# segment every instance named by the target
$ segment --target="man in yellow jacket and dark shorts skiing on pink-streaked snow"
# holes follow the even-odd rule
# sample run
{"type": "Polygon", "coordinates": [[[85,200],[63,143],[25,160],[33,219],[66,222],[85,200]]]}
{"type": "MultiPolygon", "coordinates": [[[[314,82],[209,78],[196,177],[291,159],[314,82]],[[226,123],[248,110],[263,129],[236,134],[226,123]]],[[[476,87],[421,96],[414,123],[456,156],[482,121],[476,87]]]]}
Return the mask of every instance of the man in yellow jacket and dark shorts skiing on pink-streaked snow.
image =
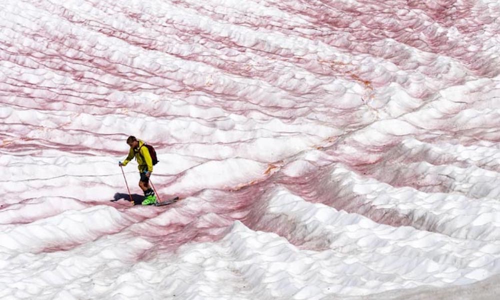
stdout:
{"type": "Polygon", "coordinates": [[[138,168],[140,172],[139,187],[144,192],[145,199],[142,201],[142,205],[150,205],[156,203],[156,196],[154,195],[154,190],[149,185],[149,176],[153,171],[153,163],[149,150],[144,146],[144,141],[136,139],[135,136],[128,136],[126,143],[130,146],[128,151],[128,156],[119,162],[118,164],[126,165],[135,156],[137,159],[138,168]]]}

